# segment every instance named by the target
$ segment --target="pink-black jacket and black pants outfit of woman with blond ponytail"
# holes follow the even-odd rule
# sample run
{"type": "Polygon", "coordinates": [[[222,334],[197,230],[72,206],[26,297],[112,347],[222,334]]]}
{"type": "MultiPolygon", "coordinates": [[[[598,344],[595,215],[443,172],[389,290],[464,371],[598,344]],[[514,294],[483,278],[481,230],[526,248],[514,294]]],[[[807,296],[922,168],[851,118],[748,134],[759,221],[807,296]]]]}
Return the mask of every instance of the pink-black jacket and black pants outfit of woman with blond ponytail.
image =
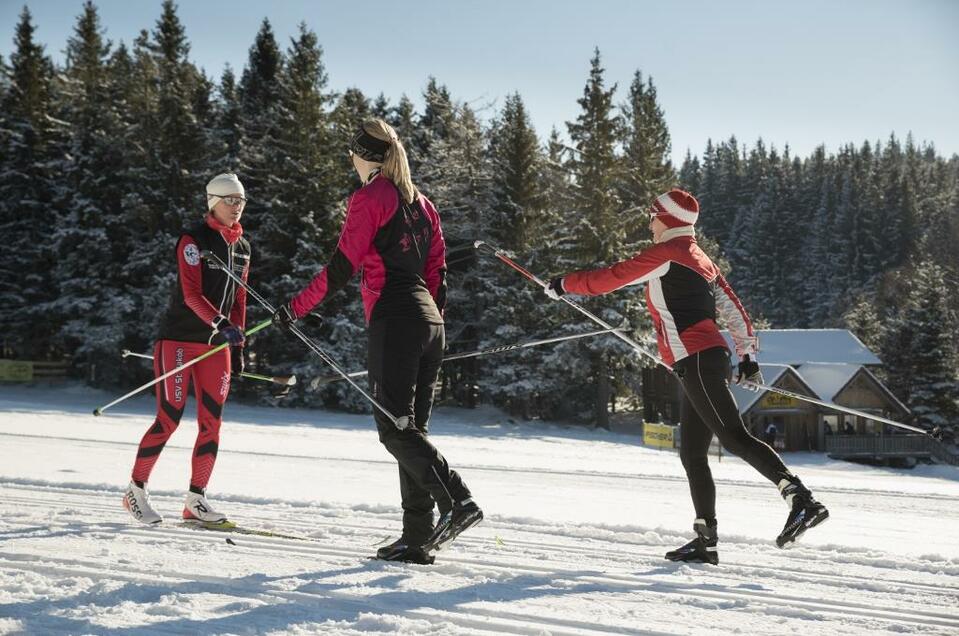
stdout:
{"type": "Polygon", "coordinates": [[[378,409],[373,416],[380,441],[399,463],[402,538],[421,545],[433,530],[434,502],[442,514],[470,497],[427,438],[446,304],[446,244],[429,199],[417,194],[407,204],[392,181],[372,175],[350,198],[330,263],[290,307],[298,318],[306,315],[357,271],[369,328],[371,393],[409,424],[400,429],[378,409]]]}

